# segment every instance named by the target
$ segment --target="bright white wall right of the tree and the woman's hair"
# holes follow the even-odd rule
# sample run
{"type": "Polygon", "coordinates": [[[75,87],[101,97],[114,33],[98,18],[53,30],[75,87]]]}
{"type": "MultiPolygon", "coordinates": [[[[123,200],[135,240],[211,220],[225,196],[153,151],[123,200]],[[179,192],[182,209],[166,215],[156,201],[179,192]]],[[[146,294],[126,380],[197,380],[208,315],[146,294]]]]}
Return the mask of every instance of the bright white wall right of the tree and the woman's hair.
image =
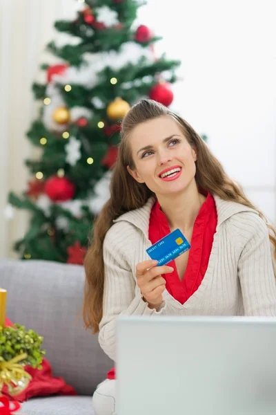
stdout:
{"type": "Polygon", "coordinates": [[[182,61],[173,108],[206,133],[226,172],[276,223],[275,0],[178,0],[139,20],[182,61]],[[171,16],[171,17],[170,17],[171,16]]]}

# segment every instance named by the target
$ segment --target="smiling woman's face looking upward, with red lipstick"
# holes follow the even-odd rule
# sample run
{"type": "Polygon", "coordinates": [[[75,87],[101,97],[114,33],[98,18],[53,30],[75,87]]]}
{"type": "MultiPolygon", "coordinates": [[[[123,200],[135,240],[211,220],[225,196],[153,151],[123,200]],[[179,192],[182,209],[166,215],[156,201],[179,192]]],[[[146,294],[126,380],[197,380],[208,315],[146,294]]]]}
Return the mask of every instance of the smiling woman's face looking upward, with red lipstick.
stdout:
{"type": "Polygon", "coordinates": [[[138,124],[128,140],[135,163],[128,172],[157,197],[183,192],[195,180],[197,154],[170,116],[138,124]]]}

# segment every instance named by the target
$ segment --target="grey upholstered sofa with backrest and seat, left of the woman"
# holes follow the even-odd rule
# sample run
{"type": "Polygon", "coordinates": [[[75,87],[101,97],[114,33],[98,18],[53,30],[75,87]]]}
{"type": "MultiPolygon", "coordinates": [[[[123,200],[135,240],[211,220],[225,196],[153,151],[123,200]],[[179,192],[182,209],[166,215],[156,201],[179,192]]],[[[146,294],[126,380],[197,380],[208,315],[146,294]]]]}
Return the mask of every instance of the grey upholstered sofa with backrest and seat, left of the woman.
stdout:
{"type": "Polygon", "coordinates": [[[6,315],[44,336],[43,347],[54,376],[78,396],[31,398],[26,415],[93,415],[92,394],[114,365],[97,335],[83,329],[82,266],[50,261],[0,259],[0,287],[8,291],[6,315]]]}

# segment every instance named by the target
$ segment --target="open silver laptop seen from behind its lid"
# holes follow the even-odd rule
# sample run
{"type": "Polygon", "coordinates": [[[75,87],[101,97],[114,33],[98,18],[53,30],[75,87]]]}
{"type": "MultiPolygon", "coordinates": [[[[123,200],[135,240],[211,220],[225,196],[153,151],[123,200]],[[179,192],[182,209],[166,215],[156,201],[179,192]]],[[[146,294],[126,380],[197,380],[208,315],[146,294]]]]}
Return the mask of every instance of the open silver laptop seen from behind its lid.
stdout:
{"type": "Polygon", "coordinates": [[[275,415],[276,317],[119,317],[117,415],[275,415]]]}

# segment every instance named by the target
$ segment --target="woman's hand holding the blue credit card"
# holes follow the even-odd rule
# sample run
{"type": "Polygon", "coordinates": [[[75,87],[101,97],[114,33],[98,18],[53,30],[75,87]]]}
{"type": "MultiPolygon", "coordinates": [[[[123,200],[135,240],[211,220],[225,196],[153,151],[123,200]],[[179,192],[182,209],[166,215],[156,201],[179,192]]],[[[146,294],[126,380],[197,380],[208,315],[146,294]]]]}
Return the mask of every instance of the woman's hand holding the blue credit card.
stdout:
{"type": "Polygon", "coordinates": [[[172,273],[170,266],[157,266],[158,261],[143,261],[136,266],[137,284],[144,300],[150,308],[159,308],[163,301],[162,293],[166,288],[166,280],[161,274],[172,273]]]}

